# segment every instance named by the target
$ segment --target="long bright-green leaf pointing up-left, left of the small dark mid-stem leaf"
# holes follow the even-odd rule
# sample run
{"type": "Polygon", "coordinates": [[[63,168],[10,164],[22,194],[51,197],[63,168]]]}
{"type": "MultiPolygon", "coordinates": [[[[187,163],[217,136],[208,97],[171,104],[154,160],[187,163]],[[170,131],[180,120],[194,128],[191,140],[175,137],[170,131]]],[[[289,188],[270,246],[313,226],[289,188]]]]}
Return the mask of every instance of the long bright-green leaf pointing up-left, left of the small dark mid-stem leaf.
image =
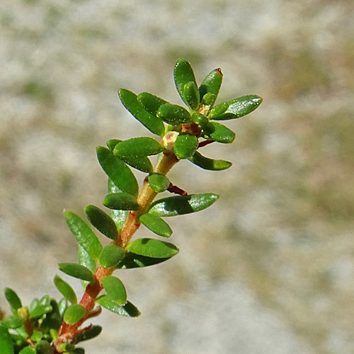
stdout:
{"type": "Polygon", "coordinates": [[[97,261],[102,250],[102,245],[89,225],[86,224],[81,217],[74,214],[74,212],[66,211],[64,212],[64,217],[67,220],[70,231],[79,242],[79,245],[89,253],[91,258],[97,261]]]}

